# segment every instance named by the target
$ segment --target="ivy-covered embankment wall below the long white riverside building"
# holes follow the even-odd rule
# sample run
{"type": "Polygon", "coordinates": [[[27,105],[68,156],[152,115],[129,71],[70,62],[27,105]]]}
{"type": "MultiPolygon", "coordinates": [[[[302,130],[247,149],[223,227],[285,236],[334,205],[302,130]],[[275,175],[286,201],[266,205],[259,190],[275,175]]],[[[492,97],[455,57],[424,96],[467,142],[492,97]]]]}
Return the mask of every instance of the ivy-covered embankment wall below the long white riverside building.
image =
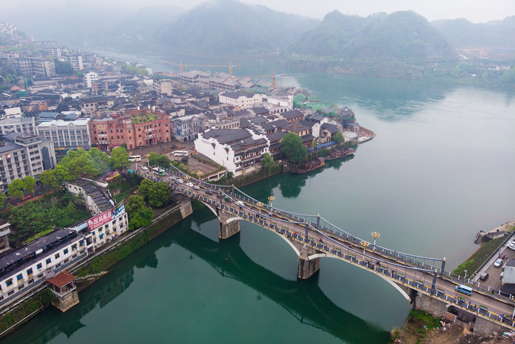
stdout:
{"type": "MultiPolygon", "coordinates": [[[[101,274],[107,268],[118,263],[134,251],[141,248],[150,240],[156,238],[165,232],[171,226],[183,220],[193,212],[190,198],[177,195],[179,204],[166,209],[163,214],[157,217],[150,225],[127,233],[118,240],[110,243],[107,247],[97,251],[94,255],[81,261],[80,264],[70,269],[70,272],[78,276],[87,276],[91,274],[101,274]]],[[[96,277],[97,279],[100,278],[96,277]]],[[[80,290],[94,283],[96,279],[84,279],[78,282],[80,290]]],[[[52,305],[55,296],[48,288],[37,290],[32,295],[18,302],[8,312],[0,316],[0,338],[14,331],[23,323],[32,317],[43,312],[47,307],[52,305]]]]}

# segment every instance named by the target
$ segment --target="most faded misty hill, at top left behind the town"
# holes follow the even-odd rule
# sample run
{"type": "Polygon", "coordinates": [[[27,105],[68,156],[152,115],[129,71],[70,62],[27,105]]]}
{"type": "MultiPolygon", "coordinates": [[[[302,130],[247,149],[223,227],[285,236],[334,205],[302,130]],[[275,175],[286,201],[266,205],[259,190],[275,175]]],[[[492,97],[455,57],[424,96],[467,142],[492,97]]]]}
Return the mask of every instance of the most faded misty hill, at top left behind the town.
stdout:
{"type": "Polygon", "coordinates": [[[132,10],[106,2],[29,2],[0,11],[0,22],[13,23],[36,40],[58,40],[80,46],[83,41],[149,40],[159,25],[169,25],[185,11],[177,7],[132,10]],[[138,37],[140,35],[140,37],[138,37]],[[76,43],[76,44],[74,44],[76,43]]]}

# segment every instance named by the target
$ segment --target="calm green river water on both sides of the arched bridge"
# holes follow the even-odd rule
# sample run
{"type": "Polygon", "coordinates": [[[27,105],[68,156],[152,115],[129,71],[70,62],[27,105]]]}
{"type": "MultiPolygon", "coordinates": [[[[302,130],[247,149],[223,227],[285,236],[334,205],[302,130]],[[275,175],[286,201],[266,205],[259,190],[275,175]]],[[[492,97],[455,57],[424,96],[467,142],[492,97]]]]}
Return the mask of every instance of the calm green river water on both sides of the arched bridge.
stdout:
{"type": "MultiPolygon", "coordinates": [[[[171,71],[159,56],[108,53],[171,71]]],[[[377,137],[353,159],[243,188],[254,198],[273,195],[278,208],[319,213],[367,240],[379,232],[396,251],[447,257],[446,270],[476,249],[477,231],[515,219],[513,92],[322,73],[282,82],[350,107],[377,137]]],[[[409,303],[384,280],[322,258],[318,274],[297,281],[283,239],[241,227],[219,241],[214,215],[198,211],[112,267],[79,305],[48,309],[3,342],[380,344],[402,326],[409,303]]]]}

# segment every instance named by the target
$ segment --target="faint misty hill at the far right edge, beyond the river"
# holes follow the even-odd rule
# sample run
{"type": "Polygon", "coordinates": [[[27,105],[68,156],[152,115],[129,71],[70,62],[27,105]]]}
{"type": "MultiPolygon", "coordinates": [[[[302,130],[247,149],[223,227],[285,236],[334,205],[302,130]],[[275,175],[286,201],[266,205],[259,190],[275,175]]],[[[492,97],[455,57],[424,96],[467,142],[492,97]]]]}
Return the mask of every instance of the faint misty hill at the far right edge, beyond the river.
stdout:
{"type": "Polygon", "coordinates": [[[466,19],[442,19],[431,25],[455,46],[515,48],[515,15],[479,24],[466,19]]]}

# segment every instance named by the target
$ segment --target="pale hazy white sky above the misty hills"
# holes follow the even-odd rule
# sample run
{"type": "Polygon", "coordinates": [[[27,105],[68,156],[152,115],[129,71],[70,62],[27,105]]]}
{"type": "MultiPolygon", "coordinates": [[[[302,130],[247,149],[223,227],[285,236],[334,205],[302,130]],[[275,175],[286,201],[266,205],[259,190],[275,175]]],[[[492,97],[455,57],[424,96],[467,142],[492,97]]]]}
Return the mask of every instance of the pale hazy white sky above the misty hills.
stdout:
{"type": "MultiPolygon", "coordinates": [[[[78,0],[46,0],[45,7],[62,2],[76,2],[78,0]]],[[[24,6],[30,6],[40,0],[27,0],[24,6]]],[[[88,4],[107,4],[134,9],[142,6],[171,5],[185,9],[205,2],[205,0],[90,0],[88,4]]],[[[400,10],[414,10],[429,21],[438,19],[466,18],[474,23],[484,23],[489,20],[502,20],[515,15],[515,0],[244,0],[249,4],[261,4],[271,9],[287,13],[307,15],[322,19],[325,14],[334,9],[344,14],[357,14],[366,17],[376,12],[395,12],[400,10]]],[[[12,6],[19,6],[19,2],[0,0],[0,11],[8,10],[12,6]]],[[[229,14],[229,13],[228,13],[229,14]]]]}

